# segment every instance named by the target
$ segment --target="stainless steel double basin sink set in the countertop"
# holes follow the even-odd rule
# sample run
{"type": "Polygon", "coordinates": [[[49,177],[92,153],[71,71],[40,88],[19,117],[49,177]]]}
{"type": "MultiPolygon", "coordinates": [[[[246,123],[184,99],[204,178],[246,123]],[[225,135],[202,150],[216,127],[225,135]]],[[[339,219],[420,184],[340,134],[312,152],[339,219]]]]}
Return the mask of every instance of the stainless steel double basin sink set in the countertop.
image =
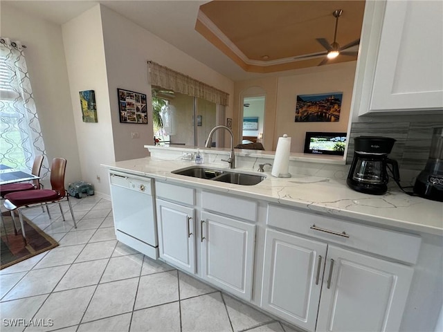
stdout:
{"type": "Polygon", "coordinates": [[[230,172],[224,169],[214,169],[204,166],[191,166],[172,171],[173,174],[204,178],[206,180],[233,183],[235,185],[256,185],[262,182],[266,176],[248,174],[242,172],[230,172]]]}

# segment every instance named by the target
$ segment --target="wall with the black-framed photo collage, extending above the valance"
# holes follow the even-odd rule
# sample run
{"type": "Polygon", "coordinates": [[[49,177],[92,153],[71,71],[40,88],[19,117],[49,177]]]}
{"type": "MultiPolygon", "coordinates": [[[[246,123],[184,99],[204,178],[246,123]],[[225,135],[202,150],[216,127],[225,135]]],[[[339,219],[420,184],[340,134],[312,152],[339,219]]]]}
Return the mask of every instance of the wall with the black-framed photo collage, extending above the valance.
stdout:
{"type": "MultiPolygon", "coordinates": [[[[153,143],[152,108],[148,109],[148,125],[120,123],[118,118],[117,88],[145,93],[147,104],[151,104],[148,60],[229,93],[229,104],[233,104],[232,80],[105,6],[101,6],[101,15],[116,160],[147,156],[143,145],[153,143]],[[134,131],[140,133],[140,139],[131,138],[134,131]]],[[[232,113],[230,108],[232,106],[227,108],[227,114],[232,113]]]]}

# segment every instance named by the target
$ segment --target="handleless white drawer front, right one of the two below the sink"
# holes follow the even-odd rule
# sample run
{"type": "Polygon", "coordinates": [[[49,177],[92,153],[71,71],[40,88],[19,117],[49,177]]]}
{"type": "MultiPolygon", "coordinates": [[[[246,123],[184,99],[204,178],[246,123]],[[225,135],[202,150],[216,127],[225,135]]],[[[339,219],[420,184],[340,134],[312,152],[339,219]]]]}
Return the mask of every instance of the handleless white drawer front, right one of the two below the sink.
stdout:
{"type": "Polygon", "coordinates": [[[246,199],[214,194],[213,192],[202,192],[201,207],[205,210],[219,212],[235,218],[248,221],[257,220],[257,203],[246,199]]]}

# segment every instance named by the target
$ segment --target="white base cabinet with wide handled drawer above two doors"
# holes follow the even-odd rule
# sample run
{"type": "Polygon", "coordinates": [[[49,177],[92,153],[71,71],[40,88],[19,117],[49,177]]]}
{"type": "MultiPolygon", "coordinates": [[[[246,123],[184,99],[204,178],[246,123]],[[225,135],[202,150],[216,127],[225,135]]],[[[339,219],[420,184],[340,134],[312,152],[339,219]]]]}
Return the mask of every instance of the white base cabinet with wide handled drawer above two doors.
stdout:
{"type": "Polygon", "coordinates": [[[393,260],[414,264],[420,237],[271,204],[266,224],[285,232],[266,229],[262,308],[307,331],[399,331],[413,268],[393,260]]]}

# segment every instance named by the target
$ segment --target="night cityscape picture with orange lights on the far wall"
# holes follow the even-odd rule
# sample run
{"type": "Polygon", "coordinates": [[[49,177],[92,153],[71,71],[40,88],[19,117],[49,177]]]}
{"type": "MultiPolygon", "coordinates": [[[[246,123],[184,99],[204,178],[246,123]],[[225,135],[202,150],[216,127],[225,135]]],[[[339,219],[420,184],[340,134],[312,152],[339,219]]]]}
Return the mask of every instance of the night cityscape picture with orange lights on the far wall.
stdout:
{"type": "Polygon", "coordinates": [[[295,122],[339,121],[342,97],[342,92],[297,95],[295,122]]]}

